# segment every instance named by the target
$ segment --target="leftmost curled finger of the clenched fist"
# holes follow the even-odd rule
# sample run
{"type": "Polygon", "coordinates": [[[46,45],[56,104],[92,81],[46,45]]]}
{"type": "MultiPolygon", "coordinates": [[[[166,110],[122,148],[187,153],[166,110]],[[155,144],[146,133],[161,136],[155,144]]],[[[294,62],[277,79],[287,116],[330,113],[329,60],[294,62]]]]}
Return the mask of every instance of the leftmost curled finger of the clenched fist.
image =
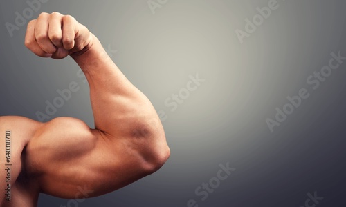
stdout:
{"type": "Polygon", "coordinates": [[[51,54],[48,54],[47,52],[44,52],[41,47],[39,47],[36,39],[35,39],[35,24],[36,19],[32,20],[28,23],[28,28],[26,30],[26,36],[25,36],[25,46],[35,53],[35,55],[39,57],[51,57],[51,54]]]}

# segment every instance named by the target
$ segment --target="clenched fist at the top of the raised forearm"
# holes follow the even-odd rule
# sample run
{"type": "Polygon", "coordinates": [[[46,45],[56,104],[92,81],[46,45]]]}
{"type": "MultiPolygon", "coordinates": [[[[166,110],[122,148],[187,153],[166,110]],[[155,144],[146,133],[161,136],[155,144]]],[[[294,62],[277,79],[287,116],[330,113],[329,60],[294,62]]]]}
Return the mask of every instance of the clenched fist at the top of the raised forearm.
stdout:
{"type": "Polygon", "coordinates": [[[62,59],[82,54],[93,43],[93,34],[69,15],[39,14],[28,23],[25,45],[39,57],[62,59]]]}

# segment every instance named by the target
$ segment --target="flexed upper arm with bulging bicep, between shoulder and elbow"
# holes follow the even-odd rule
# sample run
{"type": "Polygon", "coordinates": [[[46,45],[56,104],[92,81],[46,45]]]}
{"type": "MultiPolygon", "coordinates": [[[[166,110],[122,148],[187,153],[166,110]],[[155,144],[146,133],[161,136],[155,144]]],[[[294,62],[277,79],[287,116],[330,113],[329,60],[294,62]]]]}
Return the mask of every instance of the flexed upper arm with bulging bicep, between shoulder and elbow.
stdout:
{"type": "Polygon", "coordinates": [[[150,174],[125,137],[108,136],[79,119],[53,119],[27,145],[26,173],[42,193],[69,199],[81,188],[94,197],[150,174]]]}

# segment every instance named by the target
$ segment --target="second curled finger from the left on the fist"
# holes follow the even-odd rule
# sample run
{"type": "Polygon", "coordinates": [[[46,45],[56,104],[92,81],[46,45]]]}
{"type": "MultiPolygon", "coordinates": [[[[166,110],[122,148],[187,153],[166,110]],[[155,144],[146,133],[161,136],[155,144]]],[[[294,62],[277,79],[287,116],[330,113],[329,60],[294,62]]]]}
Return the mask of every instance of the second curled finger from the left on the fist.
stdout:
{"type": "Polygon", "coordinates": [[[50,14],[47,13],[39,14],[39,18],[35,25],[35,38],[42,50],[49,54],[53,54],[57,48],[55,48],[51,39],[48,37],[49,16],[50,14]]]}

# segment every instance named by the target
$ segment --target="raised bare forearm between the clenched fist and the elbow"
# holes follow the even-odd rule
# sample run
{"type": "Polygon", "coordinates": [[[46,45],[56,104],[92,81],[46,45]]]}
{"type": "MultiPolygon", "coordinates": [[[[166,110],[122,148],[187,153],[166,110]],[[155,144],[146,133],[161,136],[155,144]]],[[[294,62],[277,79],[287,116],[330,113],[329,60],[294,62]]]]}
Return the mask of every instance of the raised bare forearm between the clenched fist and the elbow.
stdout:
{"type": "Polygon", "coordinates": [[[131,132],[136,126],[149,127],[154,123],[162,127],[147,97],[122,74],[100,41],[92,37],[91,46],[85,52],[71,57],[89,82],[95,128],[123,135],[124,131],[131,132]]]}

